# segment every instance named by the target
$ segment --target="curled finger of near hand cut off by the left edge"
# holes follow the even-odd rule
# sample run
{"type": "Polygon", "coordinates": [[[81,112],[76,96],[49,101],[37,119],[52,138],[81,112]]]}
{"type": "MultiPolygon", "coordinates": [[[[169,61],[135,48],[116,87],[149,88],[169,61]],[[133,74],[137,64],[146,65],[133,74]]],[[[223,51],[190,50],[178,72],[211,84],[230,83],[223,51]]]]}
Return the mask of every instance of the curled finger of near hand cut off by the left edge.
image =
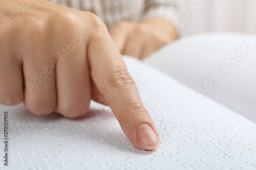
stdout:
{"type": "Polygon", "coordinates": [[[24,95],[22,64],[13,60],[6,50],[0,51],[0,103],[7,106],[17,105],[23,101],[24,95]]]}

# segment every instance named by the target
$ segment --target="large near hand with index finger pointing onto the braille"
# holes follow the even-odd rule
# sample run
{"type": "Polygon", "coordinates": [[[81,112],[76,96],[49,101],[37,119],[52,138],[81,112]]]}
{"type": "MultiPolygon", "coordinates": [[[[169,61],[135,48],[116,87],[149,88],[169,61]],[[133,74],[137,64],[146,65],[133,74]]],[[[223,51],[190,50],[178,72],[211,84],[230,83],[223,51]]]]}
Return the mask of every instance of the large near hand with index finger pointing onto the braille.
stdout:
{"type": "Polygon", "coordinates": [[[104,23],[90,12],[26,2],[20,12],[19,1],[0,1],[0,103],[77,117],[101,95],[136,148],[158,148],[153,120],[104,23]]]}

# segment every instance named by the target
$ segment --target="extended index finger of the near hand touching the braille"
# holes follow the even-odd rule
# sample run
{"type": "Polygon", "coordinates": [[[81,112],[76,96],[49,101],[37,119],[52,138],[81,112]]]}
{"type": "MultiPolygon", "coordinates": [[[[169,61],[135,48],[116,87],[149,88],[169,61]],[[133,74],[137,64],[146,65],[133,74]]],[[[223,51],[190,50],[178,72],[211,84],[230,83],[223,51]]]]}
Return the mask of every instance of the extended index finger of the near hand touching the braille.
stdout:
{"type": "Polygon", "coordinates": [[[92,79],[123,132],[136,148],[157,149],[159,137],[156,127],[111,37],[105,32],[98,33],[88,50],[92,79]]]}

